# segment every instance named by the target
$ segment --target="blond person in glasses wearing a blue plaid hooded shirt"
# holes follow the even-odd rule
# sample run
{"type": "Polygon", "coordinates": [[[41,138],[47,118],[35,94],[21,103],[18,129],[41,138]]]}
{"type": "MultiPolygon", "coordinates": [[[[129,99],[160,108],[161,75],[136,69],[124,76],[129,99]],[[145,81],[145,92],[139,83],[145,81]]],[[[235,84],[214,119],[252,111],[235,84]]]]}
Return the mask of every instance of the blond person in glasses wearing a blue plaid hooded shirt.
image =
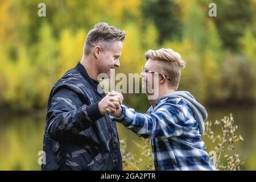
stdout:
{"type": "Polygon", "coordinates": [[[172,49],[149,50],[145,57],[143,87],[157,90],[158,97],[147,92],[151,107],[146,114],[122,105],[112,113],[113,120],[151,138],[156,170],[214,170],[201,140],[207,111],[189,92],[176,91],[185,62],[172,49]]]}

